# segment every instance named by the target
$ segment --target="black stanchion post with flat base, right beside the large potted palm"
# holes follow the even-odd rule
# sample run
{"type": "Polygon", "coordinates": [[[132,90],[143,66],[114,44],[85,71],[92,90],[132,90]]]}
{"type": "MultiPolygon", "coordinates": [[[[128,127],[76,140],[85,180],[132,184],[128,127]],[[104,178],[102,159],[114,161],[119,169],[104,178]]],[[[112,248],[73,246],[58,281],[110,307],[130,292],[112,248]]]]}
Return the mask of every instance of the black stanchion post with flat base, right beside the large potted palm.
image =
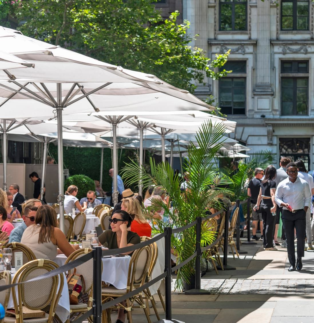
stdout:
{"type": "Polygon", "coordinates": [[[195,249],[197,252],[197,256],[195,259],[195,288],[188,289],[184,291],[186,295],[210,295],[209,290],[201,289],[201,226],[202,226],[202,218],[197,218],[196,224],[196,241],[195,241],[195,249]]]}

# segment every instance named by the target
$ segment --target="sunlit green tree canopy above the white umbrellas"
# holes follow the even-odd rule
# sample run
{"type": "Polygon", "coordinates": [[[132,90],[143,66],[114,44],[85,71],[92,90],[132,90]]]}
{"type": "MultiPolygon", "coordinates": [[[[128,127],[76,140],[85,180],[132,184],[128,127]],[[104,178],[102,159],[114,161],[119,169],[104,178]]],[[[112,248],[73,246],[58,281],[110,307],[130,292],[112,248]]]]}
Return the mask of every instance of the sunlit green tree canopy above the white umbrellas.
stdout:
{"type": "MultiPolygon", "coordinates": [[[[163,20],[157,0],[15,0],[9,1],[19,29],[31,36],[124,68],[154,74],[193,93],[228,54],[210,61],[189,46],[190,23],[177,24],[178,12],[163,20]]],[[[7,3],[4,1],[6,7],[7,3]]],[[[1,8],[0,8],[1,9],[1,8]]]]}

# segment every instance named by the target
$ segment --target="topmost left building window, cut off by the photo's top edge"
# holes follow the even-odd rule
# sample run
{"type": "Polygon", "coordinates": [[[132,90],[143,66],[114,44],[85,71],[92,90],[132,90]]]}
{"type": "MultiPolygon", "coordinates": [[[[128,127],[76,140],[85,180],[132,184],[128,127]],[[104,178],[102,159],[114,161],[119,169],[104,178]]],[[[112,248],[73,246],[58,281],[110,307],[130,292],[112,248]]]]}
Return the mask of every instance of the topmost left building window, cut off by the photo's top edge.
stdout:
{"type": "Polygon", "coordinates": [[[247,30],[247,0],[219,1],[219,30],[247,30]]]}

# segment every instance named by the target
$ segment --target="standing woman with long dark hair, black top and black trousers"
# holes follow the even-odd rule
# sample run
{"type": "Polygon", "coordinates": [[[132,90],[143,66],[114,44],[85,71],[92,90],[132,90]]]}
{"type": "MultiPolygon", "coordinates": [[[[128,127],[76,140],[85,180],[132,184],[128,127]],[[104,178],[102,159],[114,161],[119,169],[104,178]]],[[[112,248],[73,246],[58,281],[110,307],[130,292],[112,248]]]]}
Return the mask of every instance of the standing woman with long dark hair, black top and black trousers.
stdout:
{"type": "Polygon", "coordinates": [[[265,177],[260,184],[259,195],[257,203],[254,206],[255,210],[260,208],[262,211],[263,219],[263,245],[265,250],[277,250],[273,245],[273,236],[275,229],[276,220],[276,208],[275,203],[275,192],[276,192],[276,182],[274,178],[276,177],[276,168],[273,165],[269,165],[265,170],[265,177]]]}

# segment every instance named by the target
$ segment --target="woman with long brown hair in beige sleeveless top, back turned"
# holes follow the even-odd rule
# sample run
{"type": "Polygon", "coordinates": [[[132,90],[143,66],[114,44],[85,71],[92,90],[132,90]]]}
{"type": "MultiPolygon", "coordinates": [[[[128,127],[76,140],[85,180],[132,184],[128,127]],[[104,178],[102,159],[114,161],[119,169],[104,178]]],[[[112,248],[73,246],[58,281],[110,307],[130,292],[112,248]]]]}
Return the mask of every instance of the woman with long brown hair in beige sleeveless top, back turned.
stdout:
{"type": "Polygon", "coordinates": [[[78,245],[69,244],[65,234],[58,228],[56,211],[49,205],[38,208],[35,224],[25,229],[21,243],[29,247],[37,259],[54,260],[58,253],[68,257],[79,248],[78,245]]]}

